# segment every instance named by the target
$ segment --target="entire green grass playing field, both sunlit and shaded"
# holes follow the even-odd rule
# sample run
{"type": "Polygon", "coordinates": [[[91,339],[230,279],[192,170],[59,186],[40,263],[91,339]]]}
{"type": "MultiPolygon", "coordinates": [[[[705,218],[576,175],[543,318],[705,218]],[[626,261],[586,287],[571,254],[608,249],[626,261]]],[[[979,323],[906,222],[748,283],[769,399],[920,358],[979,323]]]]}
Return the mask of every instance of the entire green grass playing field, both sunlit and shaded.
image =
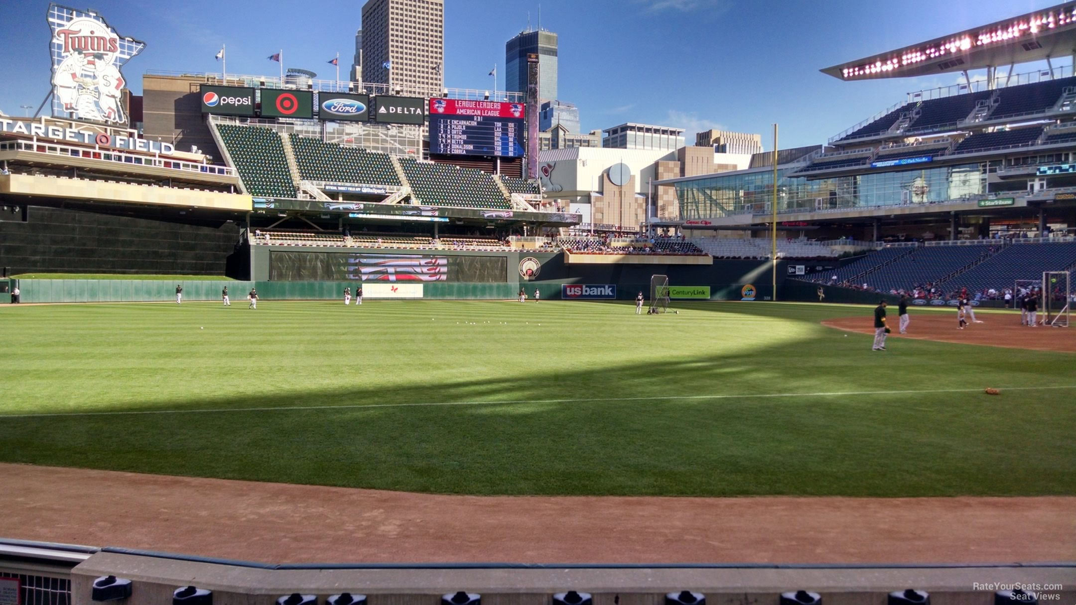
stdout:
{"type": "Polygon", "coordinates": [[[1076,356],[872,352],[819,325],[869,307],[677,306],[4,305],[0,461],[476,494],[1076,494],[1076,389],[1039,388],[1076,386],[1076,356]]]}

